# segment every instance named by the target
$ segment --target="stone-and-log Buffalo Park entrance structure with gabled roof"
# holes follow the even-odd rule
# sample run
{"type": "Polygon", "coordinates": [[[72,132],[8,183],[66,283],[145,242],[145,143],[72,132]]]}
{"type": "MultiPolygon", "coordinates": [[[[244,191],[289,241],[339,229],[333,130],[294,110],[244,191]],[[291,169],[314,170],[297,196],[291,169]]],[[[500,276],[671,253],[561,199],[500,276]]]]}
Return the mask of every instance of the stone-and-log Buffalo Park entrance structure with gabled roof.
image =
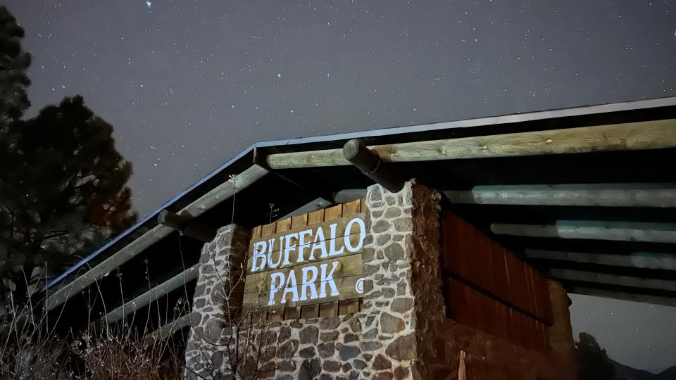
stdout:
{"type": "Polygon", "coordinates": [[[568,292],[676,305],[674,153],[674,98],[256,144],[46,308],[96,281],[190,379],[575,379],[568,292]]]}

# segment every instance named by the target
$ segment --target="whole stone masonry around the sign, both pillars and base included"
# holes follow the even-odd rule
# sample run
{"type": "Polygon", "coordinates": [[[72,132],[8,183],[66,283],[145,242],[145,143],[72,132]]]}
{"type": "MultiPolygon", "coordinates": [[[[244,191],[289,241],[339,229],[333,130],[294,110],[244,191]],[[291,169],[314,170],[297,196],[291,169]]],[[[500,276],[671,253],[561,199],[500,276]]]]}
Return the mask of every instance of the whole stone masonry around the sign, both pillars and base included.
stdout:
{"type": "MultiPolygon", "coordinates": [[[[212,258],[216,261],[200,270],[187,366],[203,366],[204,374],[209,369],[218,370],[216,376],[206,376],[207,379],[220,379],[220,375],[232,378],[228,357],[232,358],[237,345],[232,344],[232,339],[223,340],[236,335],[237,352],[249,358],[247,365],[238,364],[238,379],[254,373],[259,379],[280,380],[446,379],[457,374],[460,350],[470,357],[546,367],[544,357],[532,357],[530,351],[516,346],[508,346],[505,353],[501,349],[503,343],[496,338],[445,317],[439,272],[438,194],[415,182],[407,182],[396,194],[373,185],[365,201],[370,227],[363,251],[364,302],[360,312],[272,322],[233,334],[232,328],[225,327],[225,313],[218,306],[219,302],[223,304],[223,298],[209,295],[216,282],[203,279],[203,272],[208,277],[211,270],[216,270],[227,277],[222,265],[233,261],[226,258],[227,254],[243,260],[240,250],[246,251],[248,237],[243,246],[230,249],[227,241],[237,243],[246,234],[232,239],[223,237],[227,230],[222,229],[216,238],[222,243],[206,244],[202,253],[203,265],[212,258]],[[215,330],[219,327],[223,329],[220,335],[215,330]],[[211,341],[220,339],[223,344],[209,348],[199,336],[211,341]]],[[[242,355],[234,356],[242,361],[242,355]]]]}

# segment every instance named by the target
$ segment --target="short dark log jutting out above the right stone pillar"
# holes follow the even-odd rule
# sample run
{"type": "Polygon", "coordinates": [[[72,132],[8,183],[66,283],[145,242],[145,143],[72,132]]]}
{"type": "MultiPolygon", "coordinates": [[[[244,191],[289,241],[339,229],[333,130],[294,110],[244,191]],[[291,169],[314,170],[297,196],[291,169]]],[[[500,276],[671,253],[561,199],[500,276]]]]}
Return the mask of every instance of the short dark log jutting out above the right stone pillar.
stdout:
{"type": "Polygon", "coordinates": [[[389,169],[377,153],[363,146],[359,140],[347,141],[343,146],[343,155],[352,165],[358,167],[361,172],[388,191],[396,193],[403,189],[406,179],[389,169]]]}

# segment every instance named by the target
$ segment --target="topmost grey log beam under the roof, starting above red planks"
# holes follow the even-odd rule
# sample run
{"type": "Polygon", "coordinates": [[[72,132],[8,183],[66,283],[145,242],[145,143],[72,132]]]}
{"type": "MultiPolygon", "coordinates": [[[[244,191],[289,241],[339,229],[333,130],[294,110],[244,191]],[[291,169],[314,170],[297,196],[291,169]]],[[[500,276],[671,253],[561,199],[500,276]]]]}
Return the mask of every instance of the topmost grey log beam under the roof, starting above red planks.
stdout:
{"type": "Polygon", "coordinates": [[[461,204],[676,208],[675,184],[532,184],[442,192],[461,204]]]}

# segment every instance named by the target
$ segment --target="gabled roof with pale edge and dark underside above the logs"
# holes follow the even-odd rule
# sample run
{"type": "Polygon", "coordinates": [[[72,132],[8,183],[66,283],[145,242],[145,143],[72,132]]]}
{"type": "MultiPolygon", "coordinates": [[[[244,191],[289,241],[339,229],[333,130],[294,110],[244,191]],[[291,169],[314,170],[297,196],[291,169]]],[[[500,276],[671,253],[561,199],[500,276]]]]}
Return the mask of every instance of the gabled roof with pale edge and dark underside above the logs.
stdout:
{"type": "MultiPolygon", "coordinates": [[[[373,183],[355,167],[344,163],[270,169],[269,158],[275,155],[335,152],[349,139],[359,139],[367,146],[389,146],[674,118],[676,97],[670,97],[256,143],[50,281],[46,286],[47,305],[54,308],[94,285],[113,292],[105,289],[118,286],[108,286],[106,282],[111,281],[106,280],[106,274],[121,270],[139,277],[145,271],[142,265],[145,260],[149,260],[148,268],[154,272],[149,274],[151,284],[161,284],[193,265],[201,244],[180,239],[167,227],[158,226],[156,218],[161,210],[175,213],[184,210],[212,227],[230,223],[234,215],[234,222],[253,227],[308,203],[317,203],[318,198],[324,202],[318,204],[328,205],[334,201],[334,194],[348,189],[356,189],[353,194],[358,194],[358,189],[373,183]],[[239,176],[237,182],[228,182],[233,175],[239,176]]],[[[670,130],[676,134],[676,125],[672,122],[666,125],[671,125],[670,130]]],[[[569,291],[676,305],[676,282],[669,282],[670,278],[676,278],[676,267],[670,267],[675,262],[676,255],[672,254],[676,245],[635,238],[613,240],[607,236],[568,239],[559,236],[563,230],[534,227],[572,225],[573,229],[608,229],[617,224],[618,234],[631,233],[628,231],[632,227],[643,231],[674,231],[671,223],[676,222],[676,218],[670,208],[673,206],[476,201],[477,194],[484,199],[495,199],[523,191],[542,195],[550,190],[564,196],[582,194],[580,191],[589,194],[589,191],[615,190],[617,195],[657,189],[669,196],[675,189],[676,175],[665,165],[673,162],[674,153],[674,148],[667,146],[561,155],[403,160],[389,165],[443,191],[448,207],[521,253],[544,274],[561,279],[569,291]],[[525,232],[528,228],[530,232],[525,232]],[[636,265],[636,262],[642,264],[636,265]],[[618,284],[618,279],[623,282],[618,284]]],[[[139,289],[147,289],[146,282],[130,281],[127,294],[107,301],[106,312],[141,294],[139,289]]]]}

